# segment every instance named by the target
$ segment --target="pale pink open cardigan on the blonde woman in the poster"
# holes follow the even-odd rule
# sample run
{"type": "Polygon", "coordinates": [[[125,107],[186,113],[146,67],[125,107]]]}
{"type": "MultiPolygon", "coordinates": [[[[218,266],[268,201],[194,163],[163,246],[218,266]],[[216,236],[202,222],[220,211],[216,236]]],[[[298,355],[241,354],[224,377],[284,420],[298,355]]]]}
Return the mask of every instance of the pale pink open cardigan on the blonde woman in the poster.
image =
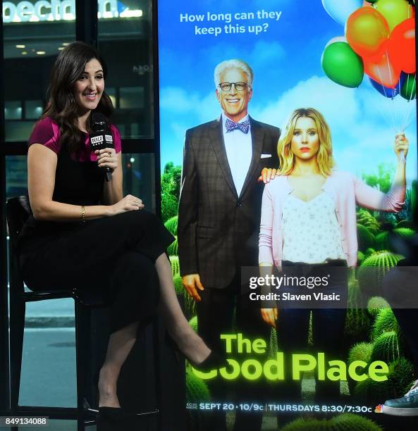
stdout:
{"type": "MultiPolygon", "coordinates": [[[[333,170],[322,187],[335,202],[341,242],[348,266],[357,264],[356,204],[373,210],[399,212],[404,204],[405,186],[392,186],[387,194],[366,185],[348,172],[333,170]]],[[[283,236],[282,210],[293,191],[287,176],[276,177],[264,187],[259,235],[259,263],[281,267],[283,236]]]]}

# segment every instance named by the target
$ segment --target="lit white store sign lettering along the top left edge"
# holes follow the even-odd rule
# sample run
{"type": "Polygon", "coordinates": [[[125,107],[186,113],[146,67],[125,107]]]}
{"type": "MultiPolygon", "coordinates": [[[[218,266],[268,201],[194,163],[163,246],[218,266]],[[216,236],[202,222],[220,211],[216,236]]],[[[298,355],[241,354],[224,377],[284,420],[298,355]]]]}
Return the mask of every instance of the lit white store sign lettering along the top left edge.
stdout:
{"type": "MultiPolygon", "coordinates": [[[[118,18],[121,3],[117,0],[99,0],[99,18],[118,18]]],[[[123,11],[123,8],[122,8],[123,11]]],[[[35,3],[19,1],[3,2],[4,23],[75,20],[75,0],[39,0],[35,3]]]]}

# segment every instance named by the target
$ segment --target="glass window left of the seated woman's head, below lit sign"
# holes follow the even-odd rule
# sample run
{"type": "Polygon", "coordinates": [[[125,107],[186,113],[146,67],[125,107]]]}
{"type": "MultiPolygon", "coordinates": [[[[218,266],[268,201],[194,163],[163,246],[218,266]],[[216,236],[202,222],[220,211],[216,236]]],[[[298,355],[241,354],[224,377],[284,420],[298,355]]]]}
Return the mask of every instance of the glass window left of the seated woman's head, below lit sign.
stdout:
{"type": "Polygon", "coordinates": [[[26,141],[45,105],[51,66],[75,40],[75,1],[12,0],[2,6],[6,140],[26,141]]]}

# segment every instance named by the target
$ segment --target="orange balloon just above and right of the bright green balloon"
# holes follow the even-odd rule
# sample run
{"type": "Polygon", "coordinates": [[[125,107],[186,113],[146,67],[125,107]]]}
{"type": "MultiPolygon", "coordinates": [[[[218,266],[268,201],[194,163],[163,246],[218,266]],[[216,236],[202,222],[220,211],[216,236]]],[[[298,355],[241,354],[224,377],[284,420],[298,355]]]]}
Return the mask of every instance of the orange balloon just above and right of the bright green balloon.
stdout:
{"type": "Polygon", "coordinates": [[[381,54],[389,35],[388,23],[374,8],[357,9],[345,25],[348,43],[363,60],[381,54]]]}

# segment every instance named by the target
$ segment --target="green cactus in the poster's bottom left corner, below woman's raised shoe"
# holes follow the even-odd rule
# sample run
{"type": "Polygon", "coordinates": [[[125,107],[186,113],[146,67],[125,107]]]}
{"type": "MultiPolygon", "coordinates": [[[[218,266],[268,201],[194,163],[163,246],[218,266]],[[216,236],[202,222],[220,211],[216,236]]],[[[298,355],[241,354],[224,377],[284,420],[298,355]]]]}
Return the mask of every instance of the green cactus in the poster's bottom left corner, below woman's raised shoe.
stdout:
{"type": "MultiPolygon", "coordinates": [[[[186,368],[186,400],[188,403],[209,402],[211,395],[207,384],[197,377],[190,367],[186,368]]],[[[188,429],[202,430],[202,423],[206,420],[204,412],[188,410],[188,429]]]]}

